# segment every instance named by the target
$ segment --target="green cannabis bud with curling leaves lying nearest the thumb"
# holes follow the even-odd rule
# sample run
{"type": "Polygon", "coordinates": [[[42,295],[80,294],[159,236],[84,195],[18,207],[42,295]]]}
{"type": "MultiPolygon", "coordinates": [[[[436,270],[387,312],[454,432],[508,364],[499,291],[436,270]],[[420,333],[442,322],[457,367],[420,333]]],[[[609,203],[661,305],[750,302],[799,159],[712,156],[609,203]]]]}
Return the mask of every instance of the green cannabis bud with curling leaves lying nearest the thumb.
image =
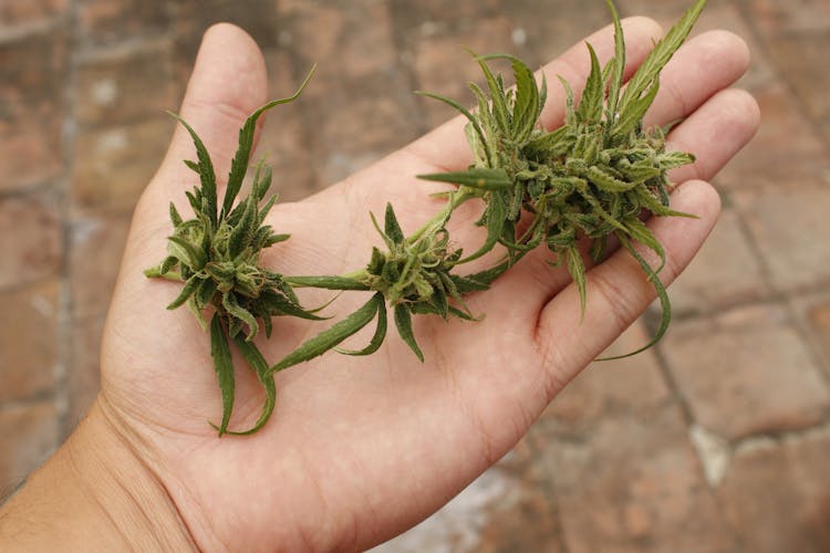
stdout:
{"type": "Polygon", "coordinates": [[[170,204],[173,234],[168,237],[167,257],[157,267],[147,269],[145,274],[181,281],[181,291],[167,309],[186,305],[203,328],[207,330],[204,313],[214,311],[210,351],[222,396],[222,419],[216,427],[220,436],[228,432],[234,410],[235,377],[229,342],[232,341],[241,351],[266,389],[267,401],[262,418],[253,427],[256,429],[264,424],[273,409],[276,393],[269,372],[262,368],[262,356],[253,345],[260,325],[270,337],[273,316],[321,320],[300,305],[291,284],[281,274],[259,264],[262,250],[289,238],[274,232],[264,222],[277,201],[277,195],[267,198],[272,182],[269,167],[262,163],[257,165],[251,192],[235,207],[248,171],[257,119],[266,111],[295,100],[312,74],[313,69],[294,94],[266,104],[245,122],[221,208],[214,164],[205,144],[187,122],[172,114],[193,138],[197,161],[187,160],[185,165],[199,176],[199,185],[186,192],[193,218],[183,218],[170,204]]]}

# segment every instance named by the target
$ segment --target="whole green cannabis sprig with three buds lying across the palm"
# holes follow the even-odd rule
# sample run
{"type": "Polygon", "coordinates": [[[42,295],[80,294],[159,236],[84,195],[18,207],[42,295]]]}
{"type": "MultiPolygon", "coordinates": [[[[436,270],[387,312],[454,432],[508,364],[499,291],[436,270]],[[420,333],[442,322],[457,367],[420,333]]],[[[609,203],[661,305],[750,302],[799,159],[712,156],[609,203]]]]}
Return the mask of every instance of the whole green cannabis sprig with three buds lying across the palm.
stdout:
{"type": "Polygon", "coordinates": [[[663,336],[671,321],[671,304],[658,278],[665,252],[643,222],[643,216],[693,217],[668,207],[672,185],[667,174],[692,163],[694,157],[668,152],[668,128],[645,128],[643,117],[660,90],[661,71],[685,41],[706,0],[697,0],[654,45],[627,83],[623,83],[625,43],[620,18],[613,3],[610,0],[606,3],[614,22],[614,56],[601,66],[588,44],[591,70],[579,101],[570,83],[560,77],[567,101],[564,123],[559,128],[547,131],[539,121],[548,95],[546,80],[542,77],[538,84],[528,65],[509,54],[470,52],[486,82],[486,91],[469,84],[477,102],[474,111],[452,98],[419,93],[454,106],[467,118],[466,137],[474,163],[463,171],[421,176],[456,186],[445,194],[444,207],[408,237],[403,233],[392,205],[386,206],[383,226],[370,213],[383,247],[373,248],[365,265],[347,274],[283,275],[260,265],[263,249],[289,238],[264,222],[276,201],[276,196],[268,197],[272,180],[268,167],[257,166],[251,192],[237,202],[250,161],[256,122],[267,109],[295,100],[311,74],[294,95],[266,104],[246,121],[221,204],[210,157],[195,131],[179,119],[193,137],[198,158],[185,161],[200,179],[187,192],[194,217],[185,220],[170,206],[174,230],[168,238],[168,255],[146,274],[183,282],[180,294],[168,309],[186,305],[206,328],[204,313],[212,311],[211,355],[224,408],[221,422],[216,425],[220,436],[249,434],[264,425],[276,401],[274,373],[330,349],[346,355],[376,352],[386,338],[388,311],[401,338],[423,361],[413,316],[476,320],[477,315],[464,301],[465,295],[487,290],[495,279],[539,247],[550,250],[552,265],[567,267],[580,292],[584,313],[587,268],[580,243],[590,242],[588,254],[593,262],[600,262],[613,237],[642,267],[654,285],[663,313],[653,340],[629,355],[650,347],[663,336]],[[513,87],[494,73],[490,64],[498,61],[510,64],[513,87]],[[453,246],[447,222],[455,209],[467,201],[481,205],[476,225],[487,232],[484,242],[465,255],[453,246]],[[652,267],[635,249],[636,243],[653,250],[660,264],[652,267]],[[491,267],[475,273],[464,271],[466,263],[491,252],[496,257],[491,267]],[[260,325],[270,337],[273,316],[322,319],[317,310],[301,305],[294,292],[300,286],[364,291],[372,295],[356,311],[269,365],[253,342],[260,325]],[[339,347],[373,322],[375,331],[365,347],[339,347]],[[228,429],[235,389],[231,342],[266,390],[259,420],[241,432],[228,429]]]}

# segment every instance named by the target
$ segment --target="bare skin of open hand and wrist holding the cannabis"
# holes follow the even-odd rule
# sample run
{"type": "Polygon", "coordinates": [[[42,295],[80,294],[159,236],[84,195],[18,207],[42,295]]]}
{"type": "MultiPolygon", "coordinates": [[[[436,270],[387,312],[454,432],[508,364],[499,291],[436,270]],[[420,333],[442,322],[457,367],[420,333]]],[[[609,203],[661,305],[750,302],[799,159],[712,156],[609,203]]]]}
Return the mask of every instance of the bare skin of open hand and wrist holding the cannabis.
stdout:
{"type": "MultiPolygon", "coordinates": [[[[662,31],[642,18],[623,27],[631,75],[662,31]]],[[[587,40],[602,62],[612,55],[611,28],[587,40]]],[[[665,284],[688,264],[717,219],[720,204],[706,180],[758,125],[755,101],[728,88],[748,62],[739,38],[716,31],[691,40],[663,73],[647,123],[684,118],[670,135],[671,148],[693,152],[698,160],[672,175],[679,184],[672,207],[699,217],[649,221],[667,253],[665,284]]],[[[543,71],[549,83],[561,74],[579,90],[589,71],[584,44],[543,71]]],[[[207,145],[217,175],[227,175],[239,126],[267,100],[253,41],[228,24],[211,28],[180,113],[207,145]]],[[[563,107],[561,87],[550,86],[546,127],[561,123],[563,107]]],[[[440,206],[428,192],[442,187],[414,175],[469,163],[463,125],[453,119],[343,182],[278,205],[269,222],[292,238],[271,248],[263,263],[287,274],[363,267],[378,241],[369,210],[382,213],[391,201],[411,232],[440,206]]],[[[179,127],[135,211],[104,330],[101,393],[69,441],[0,511],[0,541],[12,550],[370,547],[439,509],[512,448],[562,387],[654,299],[637,263],[616,251],[588,272],[580,322],[579,295],[567,272],[547,265],[549,253],[533,252],[470,298],[473,312],[487,314],[484,321],[416,320],[423,365],[394,332],[371,357],[326,354],[277,375],[277,409],[259,434],[218,439],[207,424],[221,414],[208,335],[186,310],[165,311],[177,284],[142,274],[164,255],[168,202],[187,212],[184,190],[195,175],[181,159],[194,156],[179,127]]],[[[465,205],[450,230],[468,229],[479,211],[465,205]]],[[[468,251],[481,239],[470,230],[453,236],[468,251]]],[[[301,292],[307,305],[329,298],[301,292]]],[[[349,313],[365,301],[357,295],[342,296],[333,310],[349,313]]],[[[323,327],[288,319],[274,326],[271,341],[258,342],[272,363],[323,327]]],[[[258,417],[262,393],[236,362],[231,428],[242,429],[258,417]]]]}

